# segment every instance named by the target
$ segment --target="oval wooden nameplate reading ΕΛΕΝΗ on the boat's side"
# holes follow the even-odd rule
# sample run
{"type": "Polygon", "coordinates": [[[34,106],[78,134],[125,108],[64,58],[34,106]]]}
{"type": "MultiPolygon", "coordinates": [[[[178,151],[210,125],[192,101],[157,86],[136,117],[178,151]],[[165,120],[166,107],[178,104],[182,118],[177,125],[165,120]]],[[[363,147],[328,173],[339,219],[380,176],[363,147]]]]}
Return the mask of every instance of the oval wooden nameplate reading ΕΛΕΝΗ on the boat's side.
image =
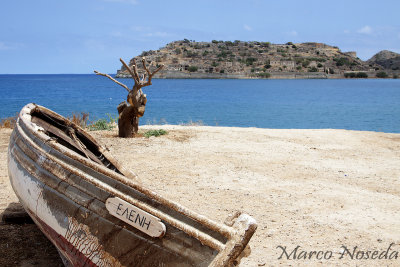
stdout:
{"type": "Polygon", "coordinates": [[[163,237],[166,231],[161,220],[118,197],[108,198],[106,208],[111,215],[152,237],[163,237]]]}

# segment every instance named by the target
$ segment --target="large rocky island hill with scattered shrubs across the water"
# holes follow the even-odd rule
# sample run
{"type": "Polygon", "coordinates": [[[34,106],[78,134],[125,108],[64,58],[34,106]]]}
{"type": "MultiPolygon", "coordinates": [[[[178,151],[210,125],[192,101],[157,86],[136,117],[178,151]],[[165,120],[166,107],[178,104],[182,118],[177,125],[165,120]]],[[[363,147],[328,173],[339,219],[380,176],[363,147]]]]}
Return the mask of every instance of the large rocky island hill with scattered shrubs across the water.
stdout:
{"type": "MultiPolygon", "coordinates": [[[[355,52],[342,52],[323,43],[175,41],[146,57],[150,66],[165,68],[159,78],[340,78],[346,73],[382,70],[374,62],[360,60],[355,52]]],[[[133,59],[130,65],[133,64],[133,59]]],[[[141,65],[141,64],[138,64],[141,65]]],[[[140,67],[140,66],[139,66],[140,67]]],[[[117,77],[129,77],[122,67],[117,77]]]]}

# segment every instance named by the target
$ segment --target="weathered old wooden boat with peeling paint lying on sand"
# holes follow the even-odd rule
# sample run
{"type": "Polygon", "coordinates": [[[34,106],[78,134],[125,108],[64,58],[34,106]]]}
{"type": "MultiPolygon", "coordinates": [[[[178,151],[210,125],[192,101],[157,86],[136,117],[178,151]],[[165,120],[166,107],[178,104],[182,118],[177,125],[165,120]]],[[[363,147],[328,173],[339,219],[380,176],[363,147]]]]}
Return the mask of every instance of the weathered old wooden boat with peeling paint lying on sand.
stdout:
{"type": "Polygon", "coordinates": [[[25,210],[72,266],[234,266],[257,228],[215,222],[145,188],[79,126],[22,108],[8,150],[25,210]]]}

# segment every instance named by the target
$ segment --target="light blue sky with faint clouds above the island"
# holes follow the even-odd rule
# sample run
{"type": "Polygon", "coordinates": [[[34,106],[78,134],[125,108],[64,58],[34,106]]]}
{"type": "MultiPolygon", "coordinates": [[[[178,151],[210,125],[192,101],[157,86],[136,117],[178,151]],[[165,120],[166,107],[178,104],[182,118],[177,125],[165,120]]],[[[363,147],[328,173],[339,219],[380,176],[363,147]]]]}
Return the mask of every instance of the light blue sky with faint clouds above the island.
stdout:
{"type": "Polygon", "coordinates": [[[0,7],[0,74],[116,73],[167,43],[322,42],[367,60],[400,53],[398,0],[13,0],[0,7]]]}

